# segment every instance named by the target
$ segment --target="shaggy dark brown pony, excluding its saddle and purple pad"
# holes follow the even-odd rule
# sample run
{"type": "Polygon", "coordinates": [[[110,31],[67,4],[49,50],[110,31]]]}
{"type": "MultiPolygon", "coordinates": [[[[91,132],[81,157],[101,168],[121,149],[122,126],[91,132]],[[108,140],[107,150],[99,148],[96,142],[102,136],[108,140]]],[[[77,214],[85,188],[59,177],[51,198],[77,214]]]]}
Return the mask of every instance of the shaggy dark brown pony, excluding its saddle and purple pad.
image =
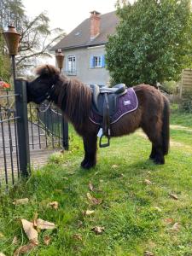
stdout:
{"type": "MultiPolygon", "coordinates": [[[[76,79],[68,79],[50,65],[37,69],[38,78],[27,84],[28,102],[41,103],[45,99],[61,108],[84,140],[84,160],[81,166],[89,169],[96,165],[96,141],[99,125],[90,121],[92,92],[76,79]]],[[[142,128],[152,143],[149,158],[155,164],[164,164],[169,148],[169,102],[159,90],[147,84],[133,89],[137,95],[137,110],[125,114],[111,125],[111,136],[119,137],[142,128]]]]}

